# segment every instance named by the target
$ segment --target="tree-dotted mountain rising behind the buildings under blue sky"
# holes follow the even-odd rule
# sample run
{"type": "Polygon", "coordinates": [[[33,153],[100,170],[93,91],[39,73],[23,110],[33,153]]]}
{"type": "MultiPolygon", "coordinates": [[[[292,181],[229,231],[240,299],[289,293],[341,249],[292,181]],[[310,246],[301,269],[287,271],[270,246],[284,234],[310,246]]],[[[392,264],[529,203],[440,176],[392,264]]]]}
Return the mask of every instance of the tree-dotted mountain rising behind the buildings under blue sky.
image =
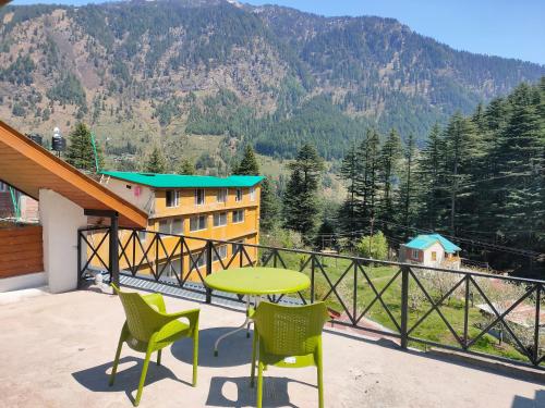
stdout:
{"type": "Polygon", "coordinates": [[[233,1],[8,5],[0,21],[1,118],[46,136],[83,120],[116,153],[193,134],[280,158],[313,141],[335,159],[366,126],[422,141],[436,121],[545,75],[392,18],[233,1]]]}

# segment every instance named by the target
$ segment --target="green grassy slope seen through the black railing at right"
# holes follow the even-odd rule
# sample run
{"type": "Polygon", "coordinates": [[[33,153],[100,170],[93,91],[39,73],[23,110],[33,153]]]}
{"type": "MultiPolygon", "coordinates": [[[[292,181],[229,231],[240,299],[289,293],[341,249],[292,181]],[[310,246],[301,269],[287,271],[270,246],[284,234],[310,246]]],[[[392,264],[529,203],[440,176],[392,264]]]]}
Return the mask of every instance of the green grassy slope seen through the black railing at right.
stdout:
{"type": "MultiPolygon", "coordinates": [[[[289,254],[289,252],[280,252],[283,261],[286,262],[286,267],[289,269],[300,270],[303,262],[306,260],[305,256],[289,254]]],[[[350,267],[349,260],[335,260],[328,258],[322,258],[322,263],[324,267],[324,271],[327,273],[330,282],[335,285],[339,277],[347,271],[350,267]]],[[[278,267],[281,267],[281,263],[278,262],[278,267]]],[[[373,285],[378,293],[390,282],[393,275],[397,273],[398,269],[392,267],[364,267],[367,272],[367,276],[370,277],[373,285]]],[[[311,268],[307,265],[304,269],[304,272],[311,275],[311,268]]],[[[344,277],[337,285],[337,293],[339,294],[340,299],[344,302],[350,313],[353,310],[353,268],[350,268],[344,277]]],[[[419,276],[419,275],[417,275],[419,276]]],[[[420,276],[419,276],[420,277],[420,276]]],[[[437,294],[428,288],[426,282],[423,280],[423,285],[427,292],[429,292],[434,301],[438,300],[437,294]]],[[[411,293],[413,290],[417,290],[415,282],[411,279],[410,281],[411,293]]],[[[323,299],[329,293],[329,284],[319,270],[316,268],[315,271],[315,296],[318,299],[323,299]]],[[[310,298],[310,290],[306,290],[304,294],[305,298],[310,298]]],[[[365,280],[362,273],[358,273],[358,301],[356,301],[356,318],[365,310],[365,308],[370,305],[371,301],[375,298],[375,294],[365,280]]],[[[399,275],[396,281],[386,289],[383,294],[383,300],[387,305],[390,310],[393,319],[400,324],[401,322],[401,275],[399,275]]],[[[343,308],[341,301],[336,296],[335,293],[329,293],[326,302],[328,306],[339,312],[343,312],[343,308]]],[[[427,300],[422,301],[416,308],[410,310],[409,312],[409,329],[413,327],[413,325],[431,309],[431,304],[427,300]]],[[[453,330],[460,336],[463,337],[463,325],[464,325],[464,305],[463,299],[459,299],[457,297],[452,297],[450,301],[445,301],[445,304],[439,308],[441,313],[445,316],[447,321],[452,325],[453,330]]],[[[384,307],[377,300],[373,305],[373,307],[365,313],[365,317],[380,323],[382,325],[398,332],[396,324],[392,322],[384,307]]],[[[479,326],[485,324],[487,320],[483,318],[475,307],[469,308],[469,319],[468,319],[468,336],[469,338],[474,338],[481,333],[481,329],[479,326]]],[[[456,338],[448,330],[447,325],[444,323],[441,318],[436,311],[433,311],[428,314],[424,321],[422,321],[416,329],[411,333],[412,337],[422,338],[431,342],[436,342],[445,345],[457,346],[459,347],[456,338]]],[[[412,342],[411,346],[422,348],[423,346],[419,343],[412,342]]],[[[514,347],[511,345],[504,343],[501,346],[498,346],[497,338],[493,337],[489,334],[485,334],[482,336],[474,346],[471,347],[473,351],[485,353],[488,355],[501,356],[505,358],[516,359],[526,361],[528,359],[520,354],[514,347]]]]}

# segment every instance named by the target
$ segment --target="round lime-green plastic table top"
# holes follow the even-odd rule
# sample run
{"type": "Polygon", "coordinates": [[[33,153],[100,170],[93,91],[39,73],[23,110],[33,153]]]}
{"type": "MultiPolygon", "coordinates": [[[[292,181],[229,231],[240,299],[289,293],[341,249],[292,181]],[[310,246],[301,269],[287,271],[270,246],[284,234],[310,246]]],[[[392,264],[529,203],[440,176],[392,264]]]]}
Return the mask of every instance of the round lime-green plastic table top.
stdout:
{"type": "Polygon", "coordinates": [[[306,289],[311,280],[304,273],[279,268],[237,268],[214,272],[205,285],[241,295],[279,295],[306,289]]]}

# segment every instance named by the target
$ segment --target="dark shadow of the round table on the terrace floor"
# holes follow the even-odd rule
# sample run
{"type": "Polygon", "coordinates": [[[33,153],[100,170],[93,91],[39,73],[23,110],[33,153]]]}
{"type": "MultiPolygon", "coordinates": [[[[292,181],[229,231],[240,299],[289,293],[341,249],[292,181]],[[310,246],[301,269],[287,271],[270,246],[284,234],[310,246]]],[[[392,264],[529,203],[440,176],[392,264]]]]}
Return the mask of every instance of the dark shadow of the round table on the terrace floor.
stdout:
{"type": "MultiPolygon", "coordinates": [[[[219,344],[219,354],[214,356],[214,344],[219,336],[231,332],[233,327],[211,327],[198,331],[199,367],[234,367],[250,364],[252,360],[252,336],[246,337],[246,330],[226,337],[219,344]]],[[[177,342],[170,348],[172,356],[189,364],[193,363],[193,348],[185,342],[177,342]]]]}

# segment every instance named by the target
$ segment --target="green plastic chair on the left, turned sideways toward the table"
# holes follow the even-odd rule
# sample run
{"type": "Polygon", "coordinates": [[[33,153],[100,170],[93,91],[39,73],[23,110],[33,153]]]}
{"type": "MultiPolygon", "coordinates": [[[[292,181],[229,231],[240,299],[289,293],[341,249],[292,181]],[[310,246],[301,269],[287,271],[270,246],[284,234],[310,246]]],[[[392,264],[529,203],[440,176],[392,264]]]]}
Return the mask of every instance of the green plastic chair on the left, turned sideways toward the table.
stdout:
{"type": "Polygon", "coordinates": [[[135,351],[146,354],[144,367],[140,378],[138,392],[134,399],[134,406],[140,404],[142,391],[146,381],[147,367],[152,353],[157,351],[157,366],[161,363],[161,349],[168,347],[183,337],[193,337],[193,386],[197,385],[198,363],[198,309],[185,310],[175,313],[167,313],[165,300],[160,294],[144,295],[137,293],[121,292],[111,285],[119,295],[126,321],[119,336],[118,350],[113,360],[110,375],[110,386],[116,380],[119,357],[123,343],[126,343],[135,351]],[[179,319],[186,318],[187,323],[179,319]]]}

